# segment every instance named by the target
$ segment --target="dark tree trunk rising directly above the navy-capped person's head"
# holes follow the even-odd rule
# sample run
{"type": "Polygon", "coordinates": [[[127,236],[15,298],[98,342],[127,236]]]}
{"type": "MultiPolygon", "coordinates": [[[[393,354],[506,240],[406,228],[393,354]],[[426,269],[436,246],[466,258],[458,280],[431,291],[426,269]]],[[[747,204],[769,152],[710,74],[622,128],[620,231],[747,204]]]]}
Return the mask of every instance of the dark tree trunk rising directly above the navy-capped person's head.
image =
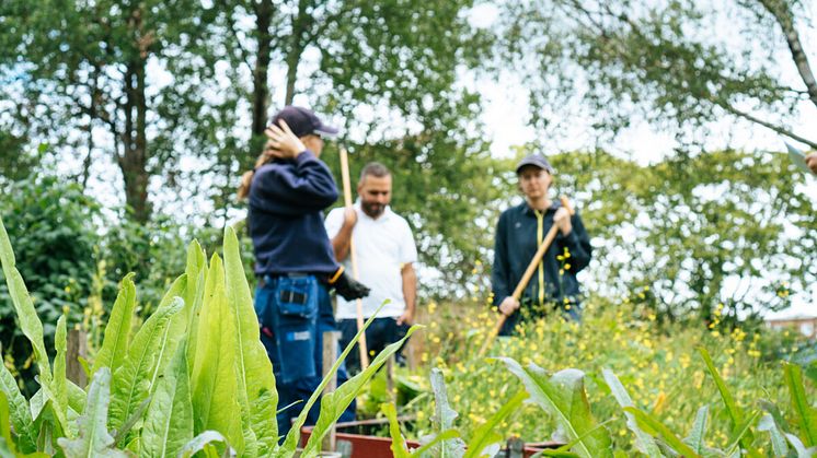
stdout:
{"type": "Polygon", "coordinates": [[[253,136],[263,136],[267,124],[267,107],[269,101],[269,60],[272,59],[272,42],[269,26],[274,14],[273,3],[263,0],[255,8],[255,26],[258,36],[255,68],[253,69],[253,136]]]}

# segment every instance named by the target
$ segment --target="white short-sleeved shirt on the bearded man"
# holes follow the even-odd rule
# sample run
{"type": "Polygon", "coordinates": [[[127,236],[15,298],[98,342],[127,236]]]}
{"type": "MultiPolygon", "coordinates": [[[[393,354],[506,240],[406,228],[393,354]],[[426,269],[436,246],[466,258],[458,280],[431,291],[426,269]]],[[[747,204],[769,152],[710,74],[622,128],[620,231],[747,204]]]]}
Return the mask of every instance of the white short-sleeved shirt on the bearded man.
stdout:
{"type": "MultiPolygon", "coordinates": [[[[355,246],[355,259],[359,281],[369,286],[371,292],[363,298],[364,318],[375,314],[387,298],[387,304],[378,317],[399,317],[405,310],[403,298],[403,265],[417,261],[417,247],[414,245],[408,223],[387,207],[377,220],[371,219],[360,209],[360,201],[355,202],[357,224],[352,231],[355,246]]],[[[334,238],[343,226],[344,208],[332,210],[326,215],[324,225],[329,238],[334,238]]],[[[352,260],[347,256],[343,266],[348,274],[352,272],[352,260]]],[[[337,319],[357,317],[356,301],[347,302],[337,297],[337,319]]]]}

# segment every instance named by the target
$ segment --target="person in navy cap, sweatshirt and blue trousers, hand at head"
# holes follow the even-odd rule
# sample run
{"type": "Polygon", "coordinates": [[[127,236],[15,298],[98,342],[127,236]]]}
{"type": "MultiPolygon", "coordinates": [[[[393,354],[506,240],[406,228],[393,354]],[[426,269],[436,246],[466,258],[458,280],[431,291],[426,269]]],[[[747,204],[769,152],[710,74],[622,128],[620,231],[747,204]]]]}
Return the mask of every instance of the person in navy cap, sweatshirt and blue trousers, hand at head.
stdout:
{"type": "MultiPolygon", "coordinates": [[[[322,331],[335,327],[329,290],[346,300],[369,289],[335,261],[323,226],[323,210],[338,192],[319,160],[323,137],[337,130],[309,109],[287,106],[265,132],[264,153],[244,175],[239,197],[249,199],[248,227],[255,251],[255,313],[273,363],[278,390],[278,432],[291,421],[321,381],[322,331]],[[299,402],[300,401],[300,402],[299,402]]],[[[318,420],[319,404],[307,424],[318,420]]]]}

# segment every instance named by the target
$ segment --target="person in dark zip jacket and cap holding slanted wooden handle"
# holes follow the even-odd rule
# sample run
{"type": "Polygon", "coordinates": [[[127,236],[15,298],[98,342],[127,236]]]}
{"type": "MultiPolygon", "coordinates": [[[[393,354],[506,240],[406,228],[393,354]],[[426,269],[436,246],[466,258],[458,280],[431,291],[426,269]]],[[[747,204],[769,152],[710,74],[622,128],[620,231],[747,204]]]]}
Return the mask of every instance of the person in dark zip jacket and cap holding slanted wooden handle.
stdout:
{"type": "Polygon", "coordinates": [[[559,308],[578,319],[580,290],[576,273],[590,262],[592,248],[578,212],[571,216],[548,191],[553,167],[542,154],[531,154],[517,164],[519,189],[525,202],[505,210],[496,226],[494,266],[491,275],[493,304],[506,315],[500,336],[509,336],[521,320],[542,317],[559,308]],[[553,225],[556,238],[542,257],[521,301],[511,294],[553,225]]]}

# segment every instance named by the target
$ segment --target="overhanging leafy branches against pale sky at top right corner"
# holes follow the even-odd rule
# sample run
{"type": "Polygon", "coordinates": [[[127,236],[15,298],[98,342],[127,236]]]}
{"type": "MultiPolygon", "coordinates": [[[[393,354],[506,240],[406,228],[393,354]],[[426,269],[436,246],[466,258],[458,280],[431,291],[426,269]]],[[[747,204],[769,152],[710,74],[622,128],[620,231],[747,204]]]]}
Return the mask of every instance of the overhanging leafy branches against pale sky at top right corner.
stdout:
{"type": "Polygon", "coordinates": [[[817,148],[790,127],[817,104],[807,4],[531,0],[508,3],[502,28],[534,122],[554,133],[589,117],[590,138],[609,139],[645,120],[689,150],[730,118],[817,148]]]}

